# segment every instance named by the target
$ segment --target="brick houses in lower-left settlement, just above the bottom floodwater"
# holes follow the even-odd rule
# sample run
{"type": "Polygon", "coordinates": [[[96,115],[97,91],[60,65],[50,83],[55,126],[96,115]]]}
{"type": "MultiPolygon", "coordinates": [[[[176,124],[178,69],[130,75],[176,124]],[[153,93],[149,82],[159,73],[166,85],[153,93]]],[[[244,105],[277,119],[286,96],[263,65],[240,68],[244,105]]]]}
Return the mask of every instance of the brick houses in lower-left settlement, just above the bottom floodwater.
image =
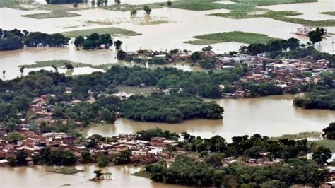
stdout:
{"type": "MultiPolygon", "coordinates": [[[[28,153],[28,165],[33,166],[31,156],[38,153],[42,148],[48,147],[52,150],[67,150],[81,158],[83,150],[90,151],[90,155],[96,160],[100,155],[118,154],[122,151],[131,151],[131,163],[148,164],[159,159],[169,159],[172,155],[164,151],[169,147],[177,146],[177,141],[165,139],[164,137],[152,137],[151,141],[136,139],[133,134],[119,134],[112,137],[112,141],[100,141],[94,138],[79,141],[77,136],[66,133],[49,132],[41,134],[40,131],[20,129],[18,133],[24,136],[24,140],[17,143],[8,143],[0,140],[0,166],[7,166],[6,158],[15,157],[18,151],[28,153]],[[93,140],[92,140],[93,139],[93,140]],[[94,141],[94,146],[89,143],[94,141]]],[[[6,139],[6,137],[4,137],[6,139]]]]}

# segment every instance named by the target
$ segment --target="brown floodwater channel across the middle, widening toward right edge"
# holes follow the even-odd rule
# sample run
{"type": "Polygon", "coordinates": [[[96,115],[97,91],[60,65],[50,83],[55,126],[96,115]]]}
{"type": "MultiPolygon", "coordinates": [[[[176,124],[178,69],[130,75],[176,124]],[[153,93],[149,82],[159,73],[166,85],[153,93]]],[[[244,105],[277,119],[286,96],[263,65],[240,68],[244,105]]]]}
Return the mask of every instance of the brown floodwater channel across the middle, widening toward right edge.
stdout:
{"type": "Polygon", "coordinates": [[[302,131],[322,131],[330,122],[335,121],[335,111],[294,107],[293,98],[294,95],[278,95],[264,98],[218,99],[215,101],[225,109],[223,119],[220,120],[196,119],[180,124],[163,124],[117,119],[112,125],[84,129],[83,134],[114,136],[160,127],[178,133],[188,131],[205,138],[218,134],[230,141],[233,136],[245,134],[281,136],[302,131]]]}

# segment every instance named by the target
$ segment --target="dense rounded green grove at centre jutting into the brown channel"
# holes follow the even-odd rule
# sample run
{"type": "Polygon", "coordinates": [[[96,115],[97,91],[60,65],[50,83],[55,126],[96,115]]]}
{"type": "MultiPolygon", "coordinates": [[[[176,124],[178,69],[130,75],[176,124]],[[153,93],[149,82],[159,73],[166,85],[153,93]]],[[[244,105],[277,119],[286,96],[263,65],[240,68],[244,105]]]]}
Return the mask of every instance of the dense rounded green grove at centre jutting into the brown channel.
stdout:
{"type": "Polygon", "coordinates": [[[153,93],[148,97],[132,96],[125,100],[122,112],[125,118],[141,122],[177,123],[194,118],[221,119],[223,107],[190,94],[153,93]]]}

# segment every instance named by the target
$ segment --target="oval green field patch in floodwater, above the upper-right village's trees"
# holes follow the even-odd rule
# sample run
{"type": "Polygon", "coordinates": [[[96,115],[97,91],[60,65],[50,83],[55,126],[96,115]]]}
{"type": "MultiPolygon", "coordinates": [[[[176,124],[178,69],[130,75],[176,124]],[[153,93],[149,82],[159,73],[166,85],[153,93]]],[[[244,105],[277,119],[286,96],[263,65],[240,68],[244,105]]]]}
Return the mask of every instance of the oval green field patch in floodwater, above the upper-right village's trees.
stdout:
{"type": "Polygon", "coordinates": [[[277,38],[269,37],[268,35],[258,33],[247,33],[241,31],[213,33],[207,35],[194,36],[198,40],[191,40],[184,43],[192,45],[210,45],[220,42],[242,42],[247,44],[263,43],[266,44],[272,40],[278,40],[277,38]]]}

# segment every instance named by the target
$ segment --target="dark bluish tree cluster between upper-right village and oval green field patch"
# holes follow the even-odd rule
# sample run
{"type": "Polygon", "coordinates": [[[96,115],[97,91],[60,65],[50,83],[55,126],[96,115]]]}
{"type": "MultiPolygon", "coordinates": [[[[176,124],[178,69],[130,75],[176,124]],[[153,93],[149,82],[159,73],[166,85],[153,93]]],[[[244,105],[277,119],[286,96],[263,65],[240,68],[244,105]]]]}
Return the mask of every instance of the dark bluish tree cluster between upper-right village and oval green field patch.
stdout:
{"type": "Polygon", "coordinates": [[[249,46],[240,47],[240,52],[244,54],[256,55],[264,52],[277,52],[278,54],[284,49],[297,49],[300,47],[299,40],[296,38],[289,38],[288,40],[274,40],[268,44],[251,44],[249,46]]]}

